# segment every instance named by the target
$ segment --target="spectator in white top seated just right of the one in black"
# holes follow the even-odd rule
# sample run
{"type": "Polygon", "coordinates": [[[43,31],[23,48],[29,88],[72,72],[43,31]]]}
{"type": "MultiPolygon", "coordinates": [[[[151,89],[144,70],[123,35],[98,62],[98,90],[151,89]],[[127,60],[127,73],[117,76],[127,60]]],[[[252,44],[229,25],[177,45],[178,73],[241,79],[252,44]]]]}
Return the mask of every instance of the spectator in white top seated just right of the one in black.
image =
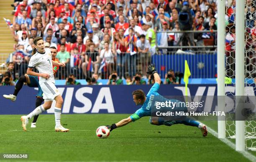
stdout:
{"type": "Polygon", "coordinates": [[[109,42],[104,43],[104,48],[100,51],[100,58],[105,60],[106,66],[108,68],[108,73],[111,73],[114,68],[114,55],[109,48],[109,42]]]}

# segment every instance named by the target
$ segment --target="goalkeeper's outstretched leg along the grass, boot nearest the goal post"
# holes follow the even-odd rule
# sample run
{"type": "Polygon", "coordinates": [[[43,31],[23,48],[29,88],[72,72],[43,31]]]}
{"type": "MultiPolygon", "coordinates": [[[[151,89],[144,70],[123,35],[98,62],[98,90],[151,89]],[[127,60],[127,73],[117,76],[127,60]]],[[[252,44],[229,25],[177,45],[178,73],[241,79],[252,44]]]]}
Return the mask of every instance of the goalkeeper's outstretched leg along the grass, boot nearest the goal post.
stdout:
{"type": "Polygon", "coordinates": [[[172,126],[173,124],[185,124],[185,125],[199,128],[202,132],[203,137],[206,137],[208,134],[205,124],[202,124],[195,120],[191,120],[189,118],[186,118],[184,121],[167,121],[161,117],[151,117],[149,122],[154,125],[166,125],[166,126],[172,126]]]}

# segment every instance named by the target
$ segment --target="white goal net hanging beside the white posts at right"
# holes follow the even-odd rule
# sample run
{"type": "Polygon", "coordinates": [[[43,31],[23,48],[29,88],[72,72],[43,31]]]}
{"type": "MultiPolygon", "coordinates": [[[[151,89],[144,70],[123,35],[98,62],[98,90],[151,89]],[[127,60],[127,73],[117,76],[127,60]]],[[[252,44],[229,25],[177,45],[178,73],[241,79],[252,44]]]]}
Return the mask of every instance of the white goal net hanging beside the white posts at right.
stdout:
{"type": "MultiPolygon", "coordinates": [[[[226,3],[225,9],[225,76],[232,78],[231,84],[225,84],[225,95],[235,97],[235,30],[236,30],[236,0],[226,3]]],[[[256,2],[246,0],[245,6],[245,96],[255,96],[256,87],[256,2]]],[[[246,102],[246,101],[245,101],[246,102]]],[[[235,107],[233,108],[235,111],[235,107]]],[[[236,121],[233,112],[226,116],[226,136],[236,138],[236,121]]],[[[250,113],[245,121],[245,144],[246,149],[256,151],[256,114],[250,113]]]]}

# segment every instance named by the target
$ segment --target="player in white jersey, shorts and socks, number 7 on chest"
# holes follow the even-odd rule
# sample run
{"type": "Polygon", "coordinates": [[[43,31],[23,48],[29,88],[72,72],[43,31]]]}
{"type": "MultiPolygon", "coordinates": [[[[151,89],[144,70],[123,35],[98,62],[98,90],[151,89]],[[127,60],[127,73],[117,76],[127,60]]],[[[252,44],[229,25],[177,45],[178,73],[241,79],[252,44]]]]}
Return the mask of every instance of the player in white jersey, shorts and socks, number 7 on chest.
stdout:
{"type": "Polygon", "coordinates": [[[44,104],[38,106],[27,116],[21,116],[22,127],[24,131],[27,131],[26,126],[28,124],[29,119],[33,116],[41,114],[47,109],[51,108],[52,101],[56,101],[56,105],[54,108],[55,115],[55,131],[56,132],[68,132],[69,129],[64,128],[60,124],[61,119],[61,107],[63,104],[63,99],[59,94],[58,89],[55,86],[54,74],[52,70],[52,66],[62,66],[64,67],[64,63],[56,63],[51,60],[51,51],[49,48],[44,48],[44,40],[42,37],[36,37],[34,39],[35,48],[33,49],[33,53],[36,53],[31,56],[31,59],[28,63],[27,74],[31,76],[39,76],[39,85],[44,92],[44,104]],[[36,67],[39,73],[33,71],[33,68],[36,67]]]}

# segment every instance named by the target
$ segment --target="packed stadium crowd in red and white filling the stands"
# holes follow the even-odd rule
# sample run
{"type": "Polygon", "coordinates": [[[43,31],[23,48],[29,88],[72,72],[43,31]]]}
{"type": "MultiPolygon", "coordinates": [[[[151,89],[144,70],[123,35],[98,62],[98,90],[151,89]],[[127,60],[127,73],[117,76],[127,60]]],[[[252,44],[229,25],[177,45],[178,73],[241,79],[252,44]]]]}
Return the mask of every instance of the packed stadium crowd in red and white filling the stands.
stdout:
{"type": "MultiPolygon", "coordinates": [[[[236,0],[228,1],[226,23],[231,24],[236,0]]],[[[217,0],[15,0],[13,7],[10,30],[17,44],[7,63],[14,64],[14,78],[26,73],[37,36],[44,38],[46,48],[55,46],[56,58],[67,65],[59,68],[56,79],[72,74],[92,80],[93,75],[109,78],[108,84],[119,84],[121,78],[128,84],[147,84],[143,78],[151,56],[171,51],[164,47],[209,44],[209,40],[215,44],[212,32],[162,31],[217,30],[217,0]],[[156,49],[156,43],[161,48],[156,49]]],[[[254,21],[249,25],[254,28],[254,21]]],[[[232,38],[231,33],[230,44],[232,38]]],[[[166,84],[180,83],[172,70],[165,78],[166,84]]]]}

